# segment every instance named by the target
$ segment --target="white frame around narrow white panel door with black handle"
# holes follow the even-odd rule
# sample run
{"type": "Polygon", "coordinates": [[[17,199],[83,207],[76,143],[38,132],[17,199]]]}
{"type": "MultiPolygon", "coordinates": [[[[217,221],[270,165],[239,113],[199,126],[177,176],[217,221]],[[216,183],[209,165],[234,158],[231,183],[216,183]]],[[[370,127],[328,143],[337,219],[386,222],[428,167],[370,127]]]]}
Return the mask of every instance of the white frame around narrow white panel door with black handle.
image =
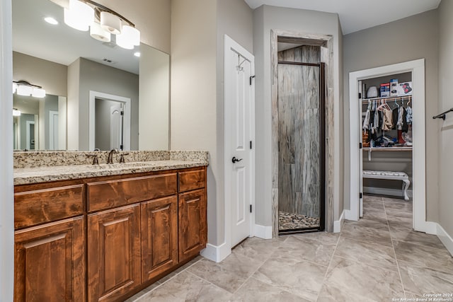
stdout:
{"type": "MultiPolygon", "coordinates": [[[[227,81],[229,81],[229,75],[227,74],[227,70],[225,68],[226,64],[228,64],[228,58],[226,56],[227,52],[233,50],[248,59],[251,62],[251,74],[254,74],[255,71],[255,59],[253,54],[248,52],[245,48],[241,47],[237,42],[235,42],[231,37],[228,35],[224,35],[224,88],[227,87],[227,81]]],[[[250,112],[250,129],[251,129],[251,141],[255,144],[255,89],[254,83],[252,81],[252,96],[251,96],[251,112],[250,112]]],[[[229,173],[229,168],[231,166],[231,116],[233,112],[231,112],[230,106],[228,106],[227,100],[227,91],[224,89],[224,207],[225,207],[225,248],[229,252],[231,252],[231,173],[229,173]]],[[[250,168],[251,168],[251,204],[253,208],[253,212],[251,213],[250,219],[250,236],[254,236],[254,226],[255,226],[255,146],[252,146],[251,149],[251,160],[250,160],[250,168]]],[[[222,256],[226,255],[221,255],[222,256]]],[[[221,259],[222,260],[222,259],[221,259]]]]}

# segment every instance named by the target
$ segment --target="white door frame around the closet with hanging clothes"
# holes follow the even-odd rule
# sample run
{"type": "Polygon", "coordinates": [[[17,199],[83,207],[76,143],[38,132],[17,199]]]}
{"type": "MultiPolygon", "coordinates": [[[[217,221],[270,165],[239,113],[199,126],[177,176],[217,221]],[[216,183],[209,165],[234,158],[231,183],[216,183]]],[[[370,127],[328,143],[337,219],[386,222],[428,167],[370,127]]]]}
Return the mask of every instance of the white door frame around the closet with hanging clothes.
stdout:
{"type": "Polygon", "coordinates": [[[412,72],[413,83],[413,228],[415,231],[432,233],[430,223],[426,221],[426,151],[425,151],[425,59],[381,66],[372,69],[350,72],[350,210],[345,211],[345,219],[359,219],[360,165],[357,158],[362,158],[359,143],[361,129],[358,101],[358,81],[362,79],[391,74],[412,72]]]}

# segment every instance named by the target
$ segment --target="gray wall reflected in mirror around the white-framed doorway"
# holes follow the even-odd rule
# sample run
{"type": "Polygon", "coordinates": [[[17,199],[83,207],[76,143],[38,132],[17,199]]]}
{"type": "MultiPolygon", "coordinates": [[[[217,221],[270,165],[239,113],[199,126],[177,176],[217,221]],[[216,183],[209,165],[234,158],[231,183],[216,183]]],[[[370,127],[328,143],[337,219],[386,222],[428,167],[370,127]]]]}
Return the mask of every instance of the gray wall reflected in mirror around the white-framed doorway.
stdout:
{"type": "MultiPolygon", "coordinates": [[[[81,58],[79,74],[79,150],[88,150],[89,92],[97,91],[131,99],[131,150],[139,147],[139,76],[81,58]]],[[[71,112],[69,115],[71,115],[71,112]]]]}

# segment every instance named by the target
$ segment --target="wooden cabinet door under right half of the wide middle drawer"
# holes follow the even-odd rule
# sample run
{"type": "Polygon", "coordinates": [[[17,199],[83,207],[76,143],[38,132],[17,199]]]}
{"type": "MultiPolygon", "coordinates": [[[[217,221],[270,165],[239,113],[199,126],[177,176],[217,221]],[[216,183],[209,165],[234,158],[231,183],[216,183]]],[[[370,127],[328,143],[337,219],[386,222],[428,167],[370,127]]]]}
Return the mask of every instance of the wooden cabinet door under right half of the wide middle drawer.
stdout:
{"type": "Polygon", "coordinates": [[[142,282],[178,263],[178,197],[143,202],[142,282]]]}

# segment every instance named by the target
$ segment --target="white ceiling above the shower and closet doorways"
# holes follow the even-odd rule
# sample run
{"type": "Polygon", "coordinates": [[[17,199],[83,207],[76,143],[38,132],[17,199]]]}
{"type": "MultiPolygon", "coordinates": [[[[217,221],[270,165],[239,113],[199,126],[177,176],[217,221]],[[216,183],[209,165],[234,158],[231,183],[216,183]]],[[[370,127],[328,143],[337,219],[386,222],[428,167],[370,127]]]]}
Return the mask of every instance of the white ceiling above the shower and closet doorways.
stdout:
{"type": "Polygon", "coordinates": [[[245,0],[259,6],[302,8],[338,13],[343,35],[437,8],[441,0],[245,0]]]}

